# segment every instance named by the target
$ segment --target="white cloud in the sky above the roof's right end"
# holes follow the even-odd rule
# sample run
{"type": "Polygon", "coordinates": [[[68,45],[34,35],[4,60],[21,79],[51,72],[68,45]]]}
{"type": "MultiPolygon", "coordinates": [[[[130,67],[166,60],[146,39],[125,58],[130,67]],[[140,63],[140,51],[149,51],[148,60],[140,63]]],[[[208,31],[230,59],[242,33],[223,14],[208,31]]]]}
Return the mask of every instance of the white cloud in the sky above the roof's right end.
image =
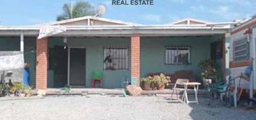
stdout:
{"type": "Polygon", "coordinates": [[[221,16],[226,20],[241,19],[242,14],[239,12],[231,11],[229,6],[218,6],[217,9],[212,9],[209,12],[221,16]]]}

